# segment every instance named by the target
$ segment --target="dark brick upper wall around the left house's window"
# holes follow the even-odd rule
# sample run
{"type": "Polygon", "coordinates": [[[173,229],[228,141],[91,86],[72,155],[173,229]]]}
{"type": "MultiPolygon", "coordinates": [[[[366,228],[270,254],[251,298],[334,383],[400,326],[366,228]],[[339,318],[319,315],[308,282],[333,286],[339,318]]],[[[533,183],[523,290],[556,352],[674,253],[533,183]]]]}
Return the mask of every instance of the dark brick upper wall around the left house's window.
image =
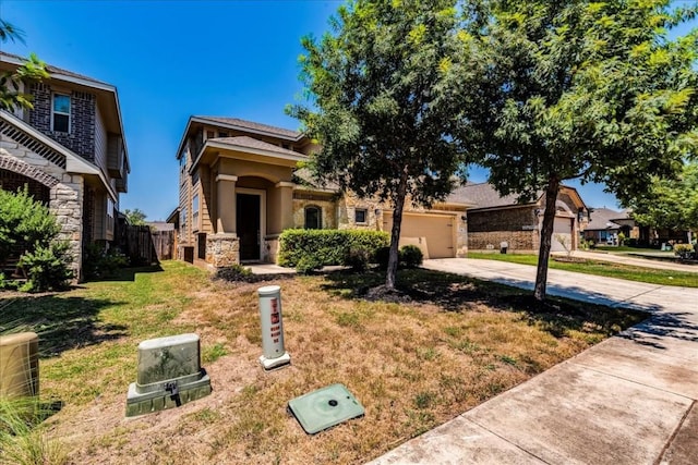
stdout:
{"type": "Polygon", "coordinates": [[[29,124],[57,143],[70,148],[81,157],[95,161],[95,118],[96,101],[93,94],[63,91],[70,94],[70,133],[51,131],[51,95],[53,89],[47,83],[33,84],[34,110],[29,111],[29,124]]]}

